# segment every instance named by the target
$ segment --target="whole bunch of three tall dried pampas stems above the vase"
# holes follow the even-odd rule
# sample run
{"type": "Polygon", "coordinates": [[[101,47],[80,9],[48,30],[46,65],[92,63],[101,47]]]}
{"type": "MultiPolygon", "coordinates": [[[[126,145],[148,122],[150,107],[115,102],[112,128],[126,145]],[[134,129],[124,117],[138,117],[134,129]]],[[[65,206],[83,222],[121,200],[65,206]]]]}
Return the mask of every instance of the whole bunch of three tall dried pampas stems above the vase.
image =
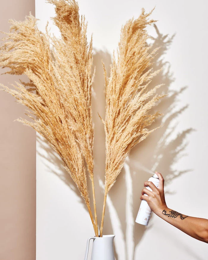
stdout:
{"type": "MultiPolygon", "coordinates": [[[[75,0],[48,0],[55,7],[53,18],[61,37],[42,33],[31,14],[23,22],[10,20],[10,32],[4,33],[0,47],[0,66],[6,73],[26,75],[27,82],[16,82],[3,89],[29,110],[30,120],[18,119],[33,127],[61,157],[64,167],[78,187],[88,208],[95,235],[98,236],[94,193],[92,124],[92,37],[87,42],[87,23],[79,16],[75,0]],[[50,45],[53,48],[50,48],[50,45]],[[86,168],[92,184],[94,217],[89,201],[86,168]]],[[[151,79],[152,59],[157,49],[147,45],[146,26],[152,12],[142,10],[137,19],[127,21],[121,30],[118,59],[115,54],[107,77],[105,65],[106,135],[105,195],[100,236],[103,234],[105,204],[109,190],[119,175],[130,149],[155,129],[147,127],[162,114],[148,114],[165,95],[153,95],[159,86],[147,90],[151,79]],[[153,97],[152,97],[153,96],[153,97]]]]}

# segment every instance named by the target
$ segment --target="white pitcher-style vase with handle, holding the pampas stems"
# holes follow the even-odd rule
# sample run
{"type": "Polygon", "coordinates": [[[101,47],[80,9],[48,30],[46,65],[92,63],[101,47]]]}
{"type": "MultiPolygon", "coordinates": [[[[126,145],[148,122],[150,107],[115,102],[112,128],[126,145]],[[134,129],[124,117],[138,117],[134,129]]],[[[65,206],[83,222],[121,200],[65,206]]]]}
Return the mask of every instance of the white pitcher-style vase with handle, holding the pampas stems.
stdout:
{"type": "Polygon", "coordinates": [[[115,260],[113,240],[115,235],[103,235],[103,237],[89,237],[84,260],[115,260]],[[88,257],[89,241],[93,239],[92,256],[88,257]]]}

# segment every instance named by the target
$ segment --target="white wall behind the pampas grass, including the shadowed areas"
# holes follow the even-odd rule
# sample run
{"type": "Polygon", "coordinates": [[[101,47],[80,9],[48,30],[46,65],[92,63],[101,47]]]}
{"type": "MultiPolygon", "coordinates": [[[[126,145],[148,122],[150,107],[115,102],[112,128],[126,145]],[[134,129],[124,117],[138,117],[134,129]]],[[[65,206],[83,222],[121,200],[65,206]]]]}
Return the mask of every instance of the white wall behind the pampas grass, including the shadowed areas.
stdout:
{"type": "MultiPolygon", "coordinates": [[[[166,83],[160,91],[169,96],[158,106],[165,116],[158,119],[155,126],[161,122],[165,125],[133,149],[109,194],[104,234],[116,235],[116,259],[159,260],[163,256],[172,260],[207,259],[207,244],[187,236],[157,216],[152,218],[148,228],[134,220],[143,183],[151,176],[148,171],[155,170],[166,178],[168,207],[185,215],[208,218],[208,23],[205,13],[208,4],[202,0],[194,4],[178,0],[79,0],[78,4],[80,14],[88,21],[88,35],[93,32],[96,96],[92,102],[99,221],[103,194],[98,179],[104,181],[105,168],[105,137],[97,116],[97,112],[103,117],[105,114],[101,59],[109,65],[122,24],[133,16],[138,17],[142,7],[148,12],[156,5],[152,18],[159,20],[156,24],[160,34],[156,34],[154,27],[149,28],[149,32],[157,37],[160,45],[175,34],[167,53],[161,57],[169,62],[169,73],[154,82],[166,83]],[[166,34],[169,36],[164,39],[166,34]]],[[[36,17],[41,20],[38,24],[42,30],[51,16],[53,7],[44,0],[36,0],[36,17]]],[[[164,48],[167,45],[163,43],[164,48]]],[[[37,142],[37,260],[83,259],[86,239],[93,235],[89,215],[73,190],[70,177],[61,169],[59,158],[42,145],[45,146],[37,142]]]]}

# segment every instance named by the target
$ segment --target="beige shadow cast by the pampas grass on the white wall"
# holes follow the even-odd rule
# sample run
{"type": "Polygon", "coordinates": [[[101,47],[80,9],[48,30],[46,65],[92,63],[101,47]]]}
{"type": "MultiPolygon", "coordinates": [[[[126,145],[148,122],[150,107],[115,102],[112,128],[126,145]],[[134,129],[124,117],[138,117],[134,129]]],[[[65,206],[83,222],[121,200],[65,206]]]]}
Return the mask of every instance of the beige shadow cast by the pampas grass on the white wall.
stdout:
{"type": "MultiPolygon", "coordinates": [[[[152,80],[149,87],[152,88],[152,86],[164,83],[165,85],[160,87],[157,92],[163,92],[168,94],[168,96],[160,100],[157,107],[150,112],[160,110],[164,114],[164,116],[156,120],[152,128],[164,125],[131,150],[122,172],[108,194],[104,234],[116,235],[114,246],[117,260],[134,259],[135,249],[147,229],[147,227],[135,223],[144,181],[151,177],[155,171],[161,172],[165,179],[167,193],[167,185],[173,179],[192,171],[191,169],[177,170],[173,168],[174,163],[183,156],[183,152],[186,149],[187,135],[194,129],[189,128],[182,131],[182,133],[176,133],[174,120],[188,107],[188,105],[185,105],[177,110],[177,103],[180,101],[178,97],[187,87],[182,87],[179,91],[170,89],[171,84],[174,82],[174,77],[170,71],[170,64],[164,62],[164,55],[171,45],[174,35],[168,38],[168,35],[160,34],[156,26],[155,30],[157,37],[152,38],[154,48],[158,46],[161,46],[161,48],[154,60],[154,69],[157,70],[162,67],[163,69],[152,80]]],[[[104,194],[101,191],[103,191],[105,182],[105,132],[103,123],[97,114],[98,112],[103,119],[105,118],[104,76],[101,59],[103,59],[109,75],[111,55],[107,51],[95,50],[93,66],[96,67],[96,74],[93,82],[92,113],[94,122],[94,181],[98,223],[101,222],[104,194]]],[[[94,70],[94,67],[92,70],[94,70]]],[[[80,203],[85,207],[76,185],[62,167],[62,161],[59,156],[42,138],[38,137],[38,141],[40,142],[40,147],[44,150],[44,154],[41,152],[41,156],[58,167],[57,170],[49,168],[49,171],[62,179],[77,194],[80,198],[80,203]]],[[[41,151],[43,151],[42,149],[41,151]]],[[[91,191],[89,180],[88,184],[89,191],[91,191]]],[[[92,197],[90,199],[92,202],[92,197]]],[[[151,228],[151,226],[148,228],[151,228]]]]}

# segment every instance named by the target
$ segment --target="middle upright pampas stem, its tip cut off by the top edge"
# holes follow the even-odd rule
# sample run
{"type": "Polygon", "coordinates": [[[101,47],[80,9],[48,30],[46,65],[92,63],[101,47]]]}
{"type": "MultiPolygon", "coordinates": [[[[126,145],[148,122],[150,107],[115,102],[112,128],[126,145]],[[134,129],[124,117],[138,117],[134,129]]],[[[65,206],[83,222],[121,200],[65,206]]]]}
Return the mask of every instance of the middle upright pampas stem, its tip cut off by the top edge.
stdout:
{"type": "Polygon", "coordinates": [[[79,7],[74,0],[48,0],[54,4],[56,16],[54,23],[62,38],[51,38],[55,52],[56,68],[59,73],[57,85],[64,88],[63,103],[69,111],[69,124],[73,128],[81,147],[92,183],[93,205],[96,235],[98,236],[97,211],[94,193],[92,125],[92,37],[87,42],[87,23],[85,17],[79,17],[79,7]],[[80,21],[81,20],[81,21],[80,21]]]}

